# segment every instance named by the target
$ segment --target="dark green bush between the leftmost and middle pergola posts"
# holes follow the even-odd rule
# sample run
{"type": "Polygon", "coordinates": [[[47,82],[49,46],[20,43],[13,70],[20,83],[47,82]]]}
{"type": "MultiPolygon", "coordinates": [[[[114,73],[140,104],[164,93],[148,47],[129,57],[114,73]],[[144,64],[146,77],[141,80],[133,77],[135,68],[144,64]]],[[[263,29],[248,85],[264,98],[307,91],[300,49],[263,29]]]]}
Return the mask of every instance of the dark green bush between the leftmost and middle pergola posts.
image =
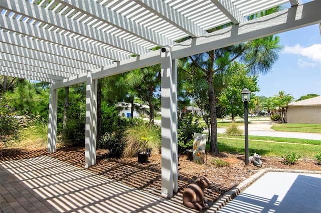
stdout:
{"type": "Polygon", "coordinates": [[[62,143],[68,146],[85,145],[85,119],[68,119],[65,128],[61,130],[62,143]]]}

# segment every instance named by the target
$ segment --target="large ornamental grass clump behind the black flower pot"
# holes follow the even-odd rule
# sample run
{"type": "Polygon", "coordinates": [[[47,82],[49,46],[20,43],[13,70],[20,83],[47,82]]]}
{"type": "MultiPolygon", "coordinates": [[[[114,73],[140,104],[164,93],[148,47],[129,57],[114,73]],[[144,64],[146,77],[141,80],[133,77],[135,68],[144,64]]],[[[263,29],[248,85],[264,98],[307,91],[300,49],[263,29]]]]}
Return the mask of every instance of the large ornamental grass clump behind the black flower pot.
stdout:
{"type": "Polygon", "coordinates": [[[141,119],[129,119],[128,128],[122,132],[122,143],[125,144],[122,157],[133,157],[138,151],[152,149],[153,152],[161,150],[161,128],[144,122],[141,119]],[[146,140],[148,142],[144,146],[146,140]]]}

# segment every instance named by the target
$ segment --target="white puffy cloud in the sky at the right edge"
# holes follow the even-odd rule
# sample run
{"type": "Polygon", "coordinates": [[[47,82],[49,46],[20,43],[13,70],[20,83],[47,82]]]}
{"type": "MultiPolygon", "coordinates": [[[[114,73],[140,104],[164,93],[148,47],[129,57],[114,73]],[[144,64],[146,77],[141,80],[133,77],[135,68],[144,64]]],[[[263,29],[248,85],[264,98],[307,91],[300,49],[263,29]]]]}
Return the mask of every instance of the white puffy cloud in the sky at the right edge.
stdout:
{"type": "Polygon", "coordinates": [[[305,56],[313,62],[321,64],[321,44],[314,44],[309,47],[302,47],[299,44],[294,47],[285,46],[282,53],[305,56]]]}

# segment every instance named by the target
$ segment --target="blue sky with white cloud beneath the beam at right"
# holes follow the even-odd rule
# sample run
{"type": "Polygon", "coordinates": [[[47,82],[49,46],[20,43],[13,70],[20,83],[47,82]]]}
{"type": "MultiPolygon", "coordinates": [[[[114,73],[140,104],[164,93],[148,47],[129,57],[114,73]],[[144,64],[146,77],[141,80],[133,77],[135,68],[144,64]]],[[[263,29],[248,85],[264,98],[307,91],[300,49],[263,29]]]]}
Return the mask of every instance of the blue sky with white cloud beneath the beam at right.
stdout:
{"type": "MultiPolygon", "coordinates": [[[[303,3],[306,1],[303,1],[303,3]]],[[[317,25],[277,34],[283,50],[273,69],[259,75],[260,92],[272,97],[279,91],[298,99],[307,94],[321,95],[321,36],[317,25]]]]}

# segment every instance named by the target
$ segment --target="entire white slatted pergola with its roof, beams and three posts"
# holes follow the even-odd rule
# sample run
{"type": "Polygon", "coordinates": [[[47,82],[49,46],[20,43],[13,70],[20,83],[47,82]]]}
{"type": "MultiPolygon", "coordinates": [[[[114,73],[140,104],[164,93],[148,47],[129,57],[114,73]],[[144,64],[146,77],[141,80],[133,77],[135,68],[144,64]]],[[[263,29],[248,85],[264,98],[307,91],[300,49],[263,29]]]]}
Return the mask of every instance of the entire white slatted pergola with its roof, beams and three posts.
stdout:
{"type": "Polygon", "coordinates": [[[0,0],[0,11],[0,75],[51,85],[49,152],[56,151],[57,90],[86,82],[86,168],[96,163],[97,80],[162,64],[165,197],[178,191],[176,60],[321,23],[321,1],[301,0],[0,0]]]}

